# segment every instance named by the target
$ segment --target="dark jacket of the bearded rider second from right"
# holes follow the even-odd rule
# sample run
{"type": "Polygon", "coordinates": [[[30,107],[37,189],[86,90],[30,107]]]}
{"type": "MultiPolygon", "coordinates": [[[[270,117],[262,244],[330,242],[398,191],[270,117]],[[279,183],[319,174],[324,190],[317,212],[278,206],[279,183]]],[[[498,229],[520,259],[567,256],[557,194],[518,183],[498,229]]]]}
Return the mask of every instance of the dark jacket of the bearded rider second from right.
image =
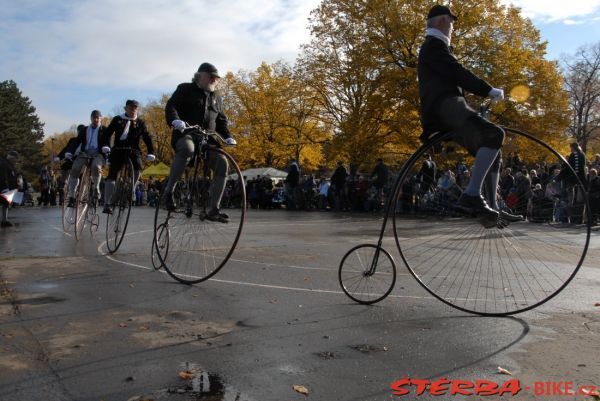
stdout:
{"type": "MultiPolygon", "coordinates": [[[[231,137],[229,122],[223,113],[221,96],[216,92],[207,96],[204,89],[193,82],[180,84],[175,89],[165,106],[165,118],[169,127],[173,120],[182,120],[189,125],[200,125],[205,130],[217,132],[223,139],[231,137]]],[[[173,130],[173,147],[182,136],[181,132],[173,130]]]]}

